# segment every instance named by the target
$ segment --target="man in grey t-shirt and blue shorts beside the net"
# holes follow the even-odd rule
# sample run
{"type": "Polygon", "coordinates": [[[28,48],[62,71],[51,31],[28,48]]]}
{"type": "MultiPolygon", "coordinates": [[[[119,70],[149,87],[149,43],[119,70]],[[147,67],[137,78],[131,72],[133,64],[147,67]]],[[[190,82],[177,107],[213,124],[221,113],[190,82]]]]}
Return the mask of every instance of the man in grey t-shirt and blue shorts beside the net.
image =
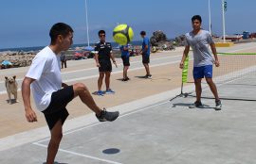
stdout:
{"type": "Polygon", "coordinates": [[[217,56],[215,44],[211,39],[209,31],[201,29],[202,18],[200,15],[194,15],[192,17],[192,32],[185,35],[185,50],[181,59],[179,67],[183,69],[184,61],[189,54],[190,47],[192,46],[193,52],[193,79],[195,85],[196,101],[191,106],[202,107],[201,103],[201,81],[202,78],[206,78],[206,81],[210,87],[211,92],[215,97],[216,110],[221,110],[222,104],[218,95],[216,85],[212,81],[212,64],[216,67],[220,66],[217,56]],[[211,52],[215,60],[210,55],[208,45],[210,44],[211,52]]]}

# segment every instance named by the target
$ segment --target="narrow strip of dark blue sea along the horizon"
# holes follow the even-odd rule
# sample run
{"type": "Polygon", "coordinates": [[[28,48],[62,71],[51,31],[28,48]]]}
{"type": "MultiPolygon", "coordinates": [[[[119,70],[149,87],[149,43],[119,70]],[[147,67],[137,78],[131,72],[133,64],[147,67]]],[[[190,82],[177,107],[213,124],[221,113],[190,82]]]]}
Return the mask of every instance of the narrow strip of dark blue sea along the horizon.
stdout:
{"type": "MultiPolygon", "coordinates": [[[[90,46],[94,46],[95,43],[90,43],[90,46]]],[[[111,42],[112,47],[118,47],[119,44],[117,42],[111,42]]],[[[131,41],[130,44],[132,45],[141,45],[141,41],[131,41]]],[[[84,44],[73,44],[71,46],[71,48],[75,48],[75,47],[83,47],[83,46],[87,46],[87,43],[84,44]]],[[[35,47],[20,47],[20,48],[4,48],[4,49],[0,49],[0,52],[4,52],[4,51],[23,51],[23,52],[29,52],[29,51],[39,51],[42,50],[45,46],[35,46],[35,47]]]]}

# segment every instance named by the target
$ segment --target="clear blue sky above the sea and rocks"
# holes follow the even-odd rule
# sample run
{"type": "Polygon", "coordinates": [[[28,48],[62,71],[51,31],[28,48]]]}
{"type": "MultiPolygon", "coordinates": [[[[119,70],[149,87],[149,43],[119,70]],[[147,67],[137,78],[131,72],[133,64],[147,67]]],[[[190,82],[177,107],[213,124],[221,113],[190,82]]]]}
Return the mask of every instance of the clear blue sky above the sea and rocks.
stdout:
{"type": "MultiPolygon", "coordinates": [[[[256,32],[256,1],[227,0],[227,34],[256,32]]],[[[90,42],[98,41],[104,29],[107,40],[119,24],[131,25],[135,40],[139,31],[163,30],[174,38],[192,29],[191,17],[199,14],[203,28],[209,29],[208,0],[87,0],[90,42]]],[[[212,32],[222,35],[221,0],[210,0],[212,32]]],[[[45,46],[51,25],[64,22],[75,31],[74,43],[85,43],[84,0],[1,0],[0,49],[45,46]]]]}

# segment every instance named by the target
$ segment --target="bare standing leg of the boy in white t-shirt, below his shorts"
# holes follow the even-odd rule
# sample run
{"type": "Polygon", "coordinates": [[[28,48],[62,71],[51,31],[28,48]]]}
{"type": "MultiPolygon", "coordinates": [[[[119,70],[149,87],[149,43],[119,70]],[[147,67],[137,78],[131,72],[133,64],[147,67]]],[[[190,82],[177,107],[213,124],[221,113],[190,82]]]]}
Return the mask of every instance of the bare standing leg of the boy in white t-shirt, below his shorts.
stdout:
{"type": "Polygon", "coordinates": [[[63,138],[63,123],[59,120],[50,130],[50,141],[47,148],[46,164],[53,164],[63,138]]]}

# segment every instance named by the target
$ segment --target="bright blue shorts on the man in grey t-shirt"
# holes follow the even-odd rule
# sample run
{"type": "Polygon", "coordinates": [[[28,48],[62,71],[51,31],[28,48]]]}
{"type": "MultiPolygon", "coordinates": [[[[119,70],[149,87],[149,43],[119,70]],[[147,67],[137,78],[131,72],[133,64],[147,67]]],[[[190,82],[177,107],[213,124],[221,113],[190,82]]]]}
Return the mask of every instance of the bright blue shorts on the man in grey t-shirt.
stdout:
{"type": "Polygon", "coordinates": [[[212,78],[212,65],[193,67],[192,75],[193,79],[212,78]]]}

